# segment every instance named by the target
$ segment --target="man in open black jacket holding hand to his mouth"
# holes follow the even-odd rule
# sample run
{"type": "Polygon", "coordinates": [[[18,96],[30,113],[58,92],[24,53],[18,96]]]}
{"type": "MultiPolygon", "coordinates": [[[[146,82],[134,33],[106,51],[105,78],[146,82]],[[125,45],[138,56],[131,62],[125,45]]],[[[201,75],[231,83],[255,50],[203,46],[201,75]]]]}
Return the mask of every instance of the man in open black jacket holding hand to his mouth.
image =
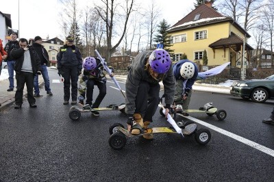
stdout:
{"type": "Polygon", "coordinates": [[[21,108],[23,104],[23,90],[25,83],[27,85],[27,101],[29,107],[37,107],[34,99],[34,75],[41,74],[41,64],[38,54],[33,47],[27,45],[27,39],[21,38],[19,40],[18,49],[12,49],[12,57],[16,60],[14,70],[16,71],[17,90],[15,93],[15,107],[21,108]]]}

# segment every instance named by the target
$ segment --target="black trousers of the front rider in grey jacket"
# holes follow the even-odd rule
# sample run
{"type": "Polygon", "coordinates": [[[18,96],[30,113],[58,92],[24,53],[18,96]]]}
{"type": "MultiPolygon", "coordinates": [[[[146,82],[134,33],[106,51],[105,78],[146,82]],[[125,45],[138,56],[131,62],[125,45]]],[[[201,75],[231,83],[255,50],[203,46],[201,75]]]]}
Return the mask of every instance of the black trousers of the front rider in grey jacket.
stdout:
{"type": "Polygon", "coordinates": [[[135,100],[135,113],[142,114],[144,122],[152,122],[152,117],[160,103],[159,92],[160,84],[151,84],[147,81],[140,82],[135,100]]]}

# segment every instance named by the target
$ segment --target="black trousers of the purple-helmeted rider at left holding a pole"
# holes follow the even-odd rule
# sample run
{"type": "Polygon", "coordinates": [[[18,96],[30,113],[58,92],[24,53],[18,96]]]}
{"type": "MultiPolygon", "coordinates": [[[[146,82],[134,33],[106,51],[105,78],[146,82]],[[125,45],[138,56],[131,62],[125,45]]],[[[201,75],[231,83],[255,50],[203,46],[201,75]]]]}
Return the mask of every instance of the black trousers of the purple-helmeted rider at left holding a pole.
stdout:
{"type": "Polygon", "coordinates": [[[92,105],[92,96],[93,96],[93,89],[96,85],[99,89],[99,94],[95,100],[95,103],[92,105],[93,108],[99,107],[100,103],[103,101],[105,94],[107,94],[107,86],[105,81],[98,81],[94,79],[88,79],[86,83],[86,104],[92,105]]]}

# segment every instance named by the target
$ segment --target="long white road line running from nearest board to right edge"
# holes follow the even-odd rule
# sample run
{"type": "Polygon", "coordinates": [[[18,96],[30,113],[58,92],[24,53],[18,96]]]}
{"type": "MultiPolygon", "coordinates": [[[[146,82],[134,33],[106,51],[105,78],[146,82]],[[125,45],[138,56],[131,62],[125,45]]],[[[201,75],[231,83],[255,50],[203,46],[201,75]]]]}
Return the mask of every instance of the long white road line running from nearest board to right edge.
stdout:
{"type": "MultiPolygon", "coordinates": [[[[178,114],[178,115],[183,116],[182,114],[178,114]]],[[[183,117],[185,117],[185,116],[183,116],[183,117]]],[[[203,122],[202,120],[198,120],[197,118],[192,118],[191,116],[187,116],[185,118],[193,120],[193,121],[199,123],[200,125],[208,127],[208,128],[210,128],[214,131],[217,131],[217,132],[223,134],[223,135],[227,135],[228,137],[233,138],[234,140],[237,140],[238,142],[242,142],[243,144],[247,144],[247,145],[249,145],[253,148],[256,148],[259,151],[262,151],[263,153],[266,153],[266,154],[271,155],[272,157],[274,157],[274,151],[271,148],[267,148],[266,146],[262,146],[260,144],[257,144],[256,142],[252,142],[251,140],[248,140],[246,138],[242,138],[239,135],[236,135],[234,133],[231,133],[231,132],[226,131],[224,129],[221,129],[219,127],[215,127],[214,125],[210,125],[210,124],[208,124],[208,122],[203,122]]]]}

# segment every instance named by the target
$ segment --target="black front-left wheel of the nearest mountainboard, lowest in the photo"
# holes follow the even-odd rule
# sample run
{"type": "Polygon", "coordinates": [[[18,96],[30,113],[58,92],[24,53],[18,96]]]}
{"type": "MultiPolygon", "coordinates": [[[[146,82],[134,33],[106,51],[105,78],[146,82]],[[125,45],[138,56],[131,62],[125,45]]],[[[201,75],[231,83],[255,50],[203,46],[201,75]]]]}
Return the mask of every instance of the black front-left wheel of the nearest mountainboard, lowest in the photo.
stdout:
{"type": "Polygon", "coordinates": [[[110,139],[108,140],[108,144],[110,144],[111,148],[115,150],[121,150],[125,144],[127,143],[127,138],[121,132],[116,132],[110,135],[110,139]]]}

